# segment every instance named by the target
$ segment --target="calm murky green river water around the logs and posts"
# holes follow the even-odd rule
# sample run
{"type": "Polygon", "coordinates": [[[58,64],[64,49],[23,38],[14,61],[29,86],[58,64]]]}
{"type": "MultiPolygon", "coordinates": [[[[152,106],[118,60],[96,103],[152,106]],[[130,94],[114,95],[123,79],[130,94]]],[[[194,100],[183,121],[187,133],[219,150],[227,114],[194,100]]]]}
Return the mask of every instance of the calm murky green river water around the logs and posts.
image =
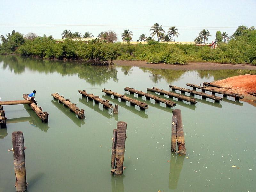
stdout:
{"type": "Polygon", "coordinates": [[[49,123],[43,124],[27,105],[4,106],[8,119],[7,129],[0,129],[0,191],[15,191],[13,155],[7,152],[14,131],[24,133],[29,192],[255,191],[255,107],[234,98],[214,103],[196,96],[196,105],[174,99],[173,109],[182,112],[187,148],[187,155],[179,156],[170,150],[172,109],[124,91],[126,86],[144,92],[153,86],[169,90],[169,84],[188,88],[186,83],[202,84],[241,73],[93,67],[0,55],[1,100],[22,100],[23,93],[35,89],[38,106],[49,113],[49,123]],[[145,101],[149,108],[140,111],[105,96],[103,88],[145,101]],[[119,114],[82,98],[79,89],[118,104],[119,114]],[[53,92],[83,108],[85,119],[53,100],[53,92]],[[110,174],[117,121],[127,122],[122,176],[110,174]]]}

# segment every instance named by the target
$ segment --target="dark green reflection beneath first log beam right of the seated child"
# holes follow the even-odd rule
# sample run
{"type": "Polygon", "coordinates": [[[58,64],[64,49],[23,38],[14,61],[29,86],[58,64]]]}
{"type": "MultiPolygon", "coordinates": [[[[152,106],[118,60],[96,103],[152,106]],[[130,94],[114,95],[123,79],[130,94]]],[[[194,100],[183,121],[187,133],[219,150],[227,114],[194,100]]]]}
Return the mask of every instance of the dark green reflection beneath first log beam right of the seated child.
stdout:
{"type": "Polygon", "coordinates": [[[84,119],[77,118],[75,113],[70,112],[69,108],[63,107],[63,104],[60,104],[58,100],[52,100],[52,104],[60,109],[62,113],[68,116],[78,127],[81,127],[81,124],[84,125],[84,119]]]}

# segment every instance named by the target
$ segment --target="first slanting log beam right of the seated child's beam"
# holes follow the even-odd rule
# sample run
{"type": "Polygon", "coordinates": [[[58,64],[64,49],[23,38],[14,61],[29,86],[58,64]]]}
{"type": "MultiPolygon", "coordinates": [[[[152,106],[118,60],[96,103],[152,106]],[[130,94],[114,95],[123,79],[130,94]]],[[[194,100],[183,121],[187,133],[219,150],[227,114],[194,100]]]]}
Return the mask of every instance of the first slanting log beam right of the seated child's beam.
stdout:
{"type": "Polygon", "coordinates": [[[59,100],[60,103],[63,103],[64,106],[68,107],[70,111],[73,111],[79,119],[84,119],[84,109],[79,109],[76,107],[76,104],[71,103],[69,99],[64,99],[63,96],[60,96],[59,93],[51,93],[54,99],[59,100]]]}

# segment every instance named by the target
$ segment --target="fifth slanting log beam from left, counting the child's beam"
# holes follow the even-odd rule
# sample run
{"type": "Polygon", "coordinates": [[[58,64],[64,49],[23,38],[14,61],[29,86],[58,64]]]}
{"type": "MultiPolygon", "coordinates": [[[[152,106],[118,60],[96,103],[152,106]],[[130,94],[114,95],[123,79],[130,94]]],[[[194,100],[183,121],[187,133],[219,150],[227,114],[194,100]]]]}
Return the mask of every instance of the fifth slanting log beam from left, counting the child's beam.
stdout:
{"type": "Polygon", "coordinates": [[[152,95],[152,94],[149,94],[149,93],[144,93],[142,91],[138,91],[138,90],[130,88],[130,87],[125,87],[124,90],[129,91],[130,93],[136,93],[140,96],[144,96],[144,97],[146,97],[146,99],[147,98],[154,99],[158,103],[162,102],[162,103],[166,104],[166,106],[168,106],[168,107],[175,107],[175,105],[176,105],[176,103],[171,101],[171,100],[163,99],[161,97],[156,97],[155,95],[152,95]]]}

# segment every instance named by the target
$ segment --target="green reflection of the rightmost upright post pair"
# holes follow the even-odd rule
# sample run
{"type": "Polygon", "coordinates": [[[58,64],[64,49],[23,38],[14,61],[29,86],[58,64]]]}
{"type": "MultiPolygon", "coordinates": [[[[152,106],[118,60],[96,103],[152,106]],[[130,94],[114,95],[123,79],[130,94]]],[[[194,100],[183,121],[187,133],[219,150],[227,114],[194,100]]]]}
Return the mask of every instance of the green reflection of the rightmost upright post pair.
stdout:
{"type": "Polygon", "coordinates": [[[169,174],[169,189],[176,189],[180,178],[185,155],[171,153],[170,174],[169,174]]]}

